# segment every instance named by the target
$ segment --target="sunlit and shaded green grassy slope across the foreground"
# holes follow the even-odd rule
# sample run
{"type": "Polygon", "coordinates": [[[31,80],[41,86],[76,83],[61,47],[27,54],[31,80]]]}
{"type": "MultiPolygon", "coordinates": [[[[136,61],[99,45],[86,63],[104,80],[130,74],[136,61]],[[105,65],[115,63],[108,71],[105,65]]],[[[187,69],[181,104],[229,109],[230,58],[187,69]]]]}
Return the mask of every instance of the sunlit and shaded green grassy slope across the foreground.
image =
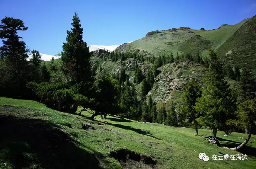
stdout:
{"type": "MultiPolygon", "coordinates": [[[[29,100],[0,98],[0,168],[121,168],[109,153],[126,148],[150,155],[157,161],[155,168],[254,168],[255,140],[252,135],[248,161],[212,161],[212,154],[237,154],[210,144],[203,137],[194,136],[194,130],[167,127],[161,124],[143,124],[115,117],[91,121],[84,116],[70,115],[47,108],[29,100]],[[83,130],[86,124],[94,129],[83,130]],[[206,153],[210,160],[198,159],[206,153]],[[254,154],[253,154],[254,153],[254,154]]],[[[199,130],[200,135],[211,131],[199,130]]],[[[237,144],[245,134],[217,136],[222,143],[237,144]],[[225,140],[227,139],[227,140],[225,140]]],[[[241,153],[240,153],[241,154],[241,153]]],[[[136,166],[133,166],[136,168],[136,166]]]]}

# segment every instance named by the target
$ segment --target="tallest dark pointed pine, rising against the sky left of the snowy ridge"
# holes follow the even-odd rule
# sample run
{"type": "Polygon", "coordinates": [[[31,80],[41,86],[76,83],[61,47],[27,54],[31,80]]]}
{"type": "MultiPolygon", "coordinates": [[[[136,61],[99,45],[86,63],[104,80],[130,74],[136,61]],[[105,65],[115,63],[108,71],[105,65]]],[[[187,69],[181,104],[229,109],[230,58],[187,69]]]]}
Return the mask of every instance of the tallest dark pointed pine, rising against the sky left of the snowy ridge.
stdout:
{"type": "Polygon", "coordinates": [[[71,31],[67,30],[67,42],[63,43],[63,52],[61,52],[62,70],[71,84],[90,83],[91,54],[86,42],[83,41],[83,28],[77,13],[74,14],[71,25],[73,28],[71,31]]]}

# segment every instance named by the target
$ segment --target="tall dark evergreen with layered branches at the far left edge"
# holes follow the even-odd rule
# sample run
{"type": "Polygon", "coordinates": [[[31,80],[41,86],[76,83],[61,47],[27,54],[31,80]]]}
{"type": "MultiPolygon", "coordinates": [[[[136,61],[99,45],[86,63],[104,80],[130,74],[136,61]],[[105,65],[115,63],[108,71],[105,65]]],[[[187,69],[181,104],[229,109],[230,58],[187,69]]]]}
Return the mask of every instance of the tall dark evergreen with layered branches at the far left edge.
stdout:
{"type": "Polygon", "coordinates": [[[18,31],[25,31],[28,28],[20,19],[5,17],[0,24],[0,38],[3,45],[0,47],[0,54],[5,64],[5,76],[0,77],[0,90],[2,95],[18,96],[24,94],[26,90],[26,82],[29,81],[26,44],[20,41],[22,37],[17,35],[18,31]],[[6,39],[6,40],[4,40],[6,39]]]}

